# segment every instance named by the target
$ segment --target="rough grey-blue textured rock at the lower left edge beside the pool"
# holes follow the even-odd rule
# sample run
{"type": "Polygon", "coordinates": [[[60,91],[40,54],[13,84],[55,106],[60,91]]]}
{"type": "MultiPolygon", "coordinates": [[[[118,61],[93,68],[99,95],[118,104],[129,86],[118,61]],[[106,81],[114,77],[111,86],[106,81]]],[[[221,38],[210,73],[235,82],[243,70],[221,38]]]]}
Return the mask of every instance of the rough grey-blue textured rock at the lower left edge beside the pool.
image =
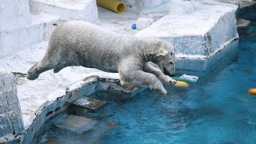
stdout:
{"type": "Polygon", "coordinates": [[[13,74],[0,71],[0,143],[13,141],[24,133],[13,74]]]}

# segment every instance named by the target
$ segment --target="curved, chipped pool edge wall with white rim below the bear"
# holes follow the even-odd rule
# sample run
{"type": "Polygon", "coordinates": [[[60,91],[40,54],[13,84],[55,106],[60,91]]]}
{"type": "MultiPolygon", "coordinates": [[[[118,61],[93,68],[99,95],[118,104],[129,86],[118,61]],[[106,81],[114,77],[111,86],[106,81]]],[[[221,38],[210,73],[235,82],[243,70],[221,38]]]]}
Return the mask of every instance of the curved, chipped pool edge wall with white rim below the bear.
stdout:
{"type": "Polygon", "coordinates": [[[101,78],[97,75],[84,78],[83,80],[68,86],[65,95],[54,95],[54,101],[42,104],[38,109],[38,113],[35,115],[33,122],[26,128],[22,143],[32,142],[34,136],[46,121],[61,114],[66,110],[70,103],[78,98],[89,96],[96,91],[106,91],[115,95],[133,97],[142,90],[144,89],[134,90],[133,92],[124,90],[122,86],[120,86],[117,78],[101,78]]]}

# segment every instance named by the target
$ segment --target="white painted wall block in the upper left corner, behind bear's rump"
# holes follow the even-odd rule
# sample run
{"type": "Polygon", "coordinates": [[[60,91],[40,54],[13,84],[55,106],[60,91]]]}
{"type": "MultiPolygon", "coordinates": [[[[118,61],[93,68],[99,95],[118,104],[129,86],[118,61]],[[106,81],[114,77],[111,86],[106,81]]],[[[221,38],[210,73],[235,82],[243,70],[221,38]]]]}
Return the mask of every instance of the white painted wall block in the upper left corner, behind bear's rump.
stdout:
{"type": "Polygon", "coordinates": [[[30,14],[29,0],[0,3],[0,56],[7,56],[50,38],[58,17],[30,14]]]}

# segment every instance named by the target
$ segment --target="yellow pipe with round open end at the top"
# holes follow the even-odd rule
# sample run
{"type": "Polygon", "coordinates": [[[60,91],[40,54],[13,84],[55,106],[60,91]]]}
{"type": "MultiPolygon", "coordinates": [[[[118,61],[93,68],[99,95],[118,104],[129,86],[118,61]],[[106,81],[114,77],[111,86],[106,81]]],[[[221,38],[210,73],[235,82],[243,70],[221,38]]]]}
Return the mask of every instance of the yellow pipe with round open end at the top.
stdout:
{"type": "Polygon", "coordinates": [[[97,0],[97,4],[116,13],[122,13],[126,10],[126,5],[117,0],[97,0]]]}

